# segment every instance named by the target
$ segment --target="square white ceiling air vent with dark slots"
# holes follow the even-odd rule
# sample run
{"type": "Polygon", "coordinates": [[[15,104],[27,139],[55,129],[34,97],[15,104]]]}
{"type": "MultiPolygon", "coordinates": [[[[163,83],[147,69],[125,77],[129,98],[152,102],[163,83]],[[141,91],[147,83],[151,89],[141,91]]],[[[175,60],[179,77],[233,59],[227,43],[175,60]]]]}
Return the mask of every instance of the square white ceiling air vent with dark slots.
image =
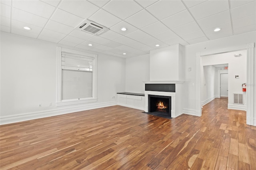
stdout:
{"type": "Polygon", "coordinates": [[[98,36],[104,32],[107,32],[109,28],[106,28],[96,22],[85,20],[80,24],[78,27],[81,31],[88,32],[90,34],[94,34],[95,36],[98,36]]]}

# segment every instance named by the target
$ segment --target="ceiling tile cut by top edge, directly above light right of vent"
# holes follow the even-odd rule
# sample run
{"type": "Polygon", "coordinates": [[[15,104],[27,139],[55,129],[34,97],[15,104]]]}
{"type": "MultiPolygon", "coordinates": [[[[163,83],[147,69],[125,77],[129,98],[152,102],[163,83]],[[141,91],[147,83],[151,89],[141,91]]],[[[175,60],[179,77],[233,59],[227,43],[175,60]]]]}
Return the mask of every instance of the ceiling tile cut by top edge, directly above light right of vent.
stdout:
{"type": "Polygon", "coordinates": [[[139,12],[143,8],[134,1],[112,0],[106,4],[103,9],[124,20],[129,16],[139,12]]]}

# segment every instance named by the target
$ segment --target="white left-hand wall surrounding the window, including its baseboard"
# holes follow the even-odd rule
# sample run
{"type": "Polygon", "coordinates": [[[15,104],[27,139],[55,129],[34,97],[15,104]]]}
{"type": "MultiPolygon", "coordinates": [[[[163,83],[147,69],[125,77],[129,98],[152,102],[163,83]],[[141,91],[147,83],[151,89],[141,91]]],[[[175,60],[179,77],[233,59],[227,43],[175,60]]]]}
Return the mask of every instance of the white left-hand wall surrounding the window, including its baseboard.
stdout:
{"type": "Polygon", "coordinates": [[[125,91],[125,59],[98,54],[98,102],[56,107],[56,46],[1,32],[1,123],[15,122],[18,117],[20,121],[46,117],[46,112],[70,113],[117,103],[116,93],[125,91]],[[38,107],[39,103],[42,107],[38,107]]]}

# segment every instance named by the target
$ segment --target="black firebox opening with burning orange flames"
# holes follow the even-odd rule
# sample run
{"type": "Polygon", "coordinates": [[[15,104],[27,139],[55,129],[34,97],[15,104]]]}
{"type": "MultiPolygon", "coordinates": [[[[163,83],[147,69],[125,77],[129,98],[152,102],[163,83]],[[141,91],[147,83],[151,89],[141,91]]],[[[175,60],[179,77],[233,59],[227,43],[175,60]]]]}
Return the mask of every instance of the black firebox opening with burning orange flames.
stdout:
{"type": "Polygon", "coordinates": [[[148,95],[148,112],[152,115],[171,118],[170,96],[148,95]]]}

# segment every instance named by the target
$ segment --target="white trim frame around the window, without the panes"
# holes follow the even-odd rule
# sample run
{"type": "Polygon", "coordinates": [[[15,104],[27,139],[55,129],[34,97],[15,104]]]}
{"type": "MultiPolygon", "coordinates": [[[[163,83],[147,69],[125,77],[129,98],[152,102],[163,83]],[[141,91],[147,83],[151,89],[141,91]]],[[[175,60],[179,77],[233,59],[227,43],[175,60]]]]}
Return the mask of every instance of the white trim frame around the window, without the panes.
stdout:
{"type": "Polygon", "coordinates": [[[82,103],[96,102],[97,99],[97,57],[96,54],[86,53],[73,49],[57,47],[57,102],[56,106],[76,105],[82,103]],[[74,55],[92,59],[92,97],[81,99],[65,99],[62,100],[62,54],[74,55]]]}

